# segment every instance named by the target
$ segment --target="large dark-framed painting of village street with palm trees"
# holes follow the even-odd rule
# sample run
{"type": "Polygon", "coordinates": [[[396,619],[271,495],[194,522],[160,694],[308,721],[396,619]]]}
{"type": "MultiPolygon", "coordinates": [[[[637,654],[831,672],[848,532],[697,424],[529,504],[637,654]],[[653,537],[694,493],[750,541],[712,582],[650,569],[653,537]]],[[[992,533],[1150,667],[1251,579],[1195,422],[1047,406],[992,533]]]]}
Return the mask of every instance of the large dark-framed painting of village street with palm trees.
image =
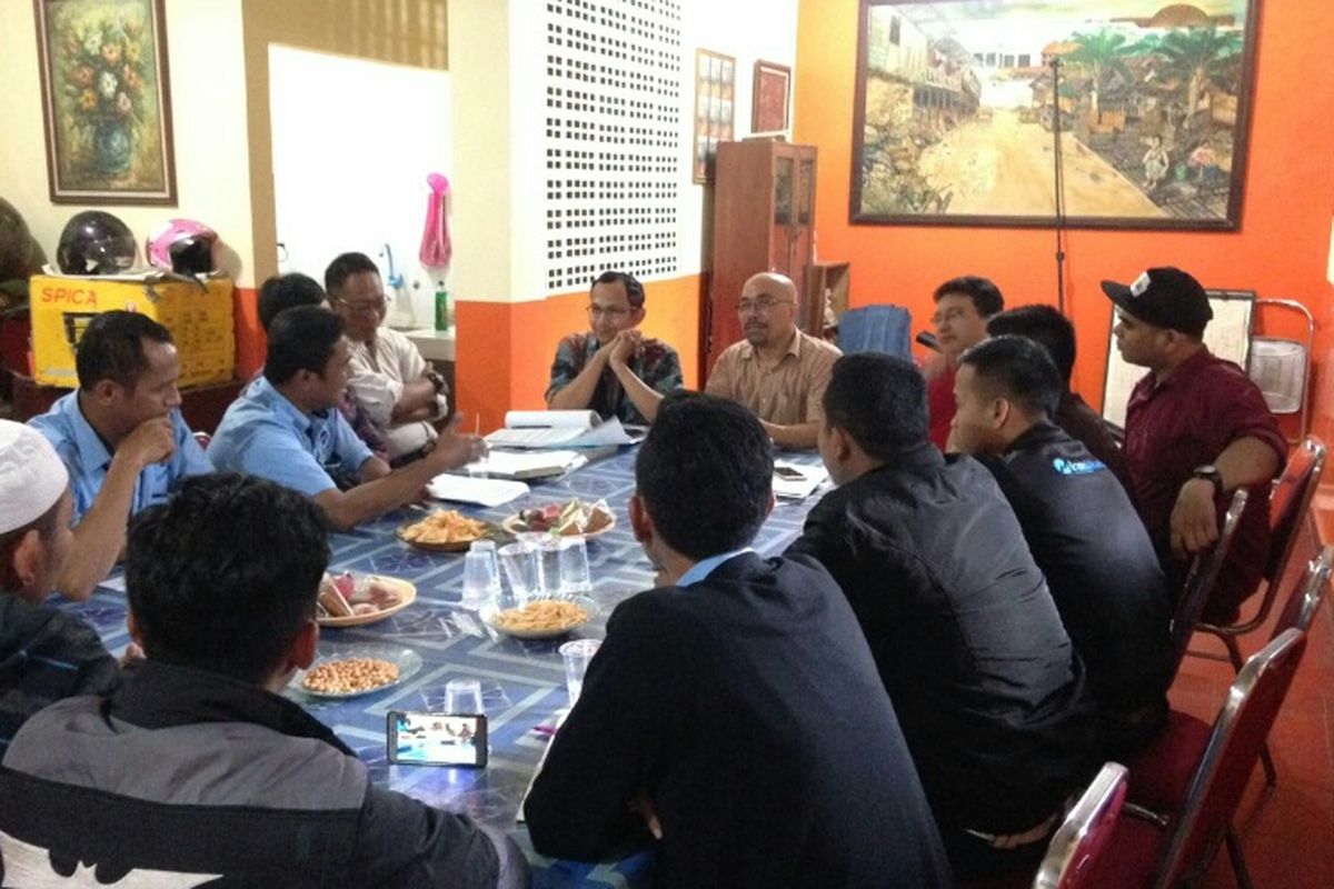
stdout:
{"type": "Polygon", "coordinates": [[[1235,229],[1259,3],[862,0],[851,221],[1235,229]]]}

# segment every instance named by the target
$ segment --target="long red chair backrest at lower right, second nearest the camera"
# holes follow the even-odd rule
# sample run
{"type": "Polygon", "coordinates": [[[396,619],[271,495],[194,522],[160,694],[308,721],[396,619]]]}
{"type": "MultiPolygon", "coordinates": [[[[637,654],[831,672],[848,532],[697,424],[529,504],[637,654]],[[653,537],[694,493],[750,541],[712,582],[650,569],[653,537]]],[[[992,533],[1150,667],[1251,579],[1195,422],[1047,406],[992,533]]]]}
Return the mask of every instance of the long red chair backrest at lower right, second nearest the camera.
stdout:
{"type": "Polygon", "coordinates": [[[1177,886],[1209,865],[1305,650],[1306,633],[1285,630],[1237,674],[1163,849],[1155,889],[1177,886]]]}

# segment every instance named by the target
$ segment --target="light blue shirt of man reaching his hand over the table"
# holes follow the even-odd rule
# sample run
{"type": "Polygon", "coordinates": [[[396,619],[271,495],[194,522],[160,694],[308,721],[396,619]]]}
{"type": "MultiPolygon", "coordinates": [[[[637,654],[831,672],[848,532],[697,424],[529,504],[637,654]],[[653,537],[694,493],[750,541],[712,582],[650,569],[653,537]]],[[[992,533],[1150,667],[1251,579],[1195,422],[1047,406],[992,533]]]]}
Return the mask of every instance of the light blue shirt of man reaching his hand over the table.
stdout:
{"type": "Polygon", "coordinates": [[[260,377],[223,416],[208,458],[308,497],[336,488],[331,473],[356,473],[374,454],[336,408],[304,413],[260,377]]]}

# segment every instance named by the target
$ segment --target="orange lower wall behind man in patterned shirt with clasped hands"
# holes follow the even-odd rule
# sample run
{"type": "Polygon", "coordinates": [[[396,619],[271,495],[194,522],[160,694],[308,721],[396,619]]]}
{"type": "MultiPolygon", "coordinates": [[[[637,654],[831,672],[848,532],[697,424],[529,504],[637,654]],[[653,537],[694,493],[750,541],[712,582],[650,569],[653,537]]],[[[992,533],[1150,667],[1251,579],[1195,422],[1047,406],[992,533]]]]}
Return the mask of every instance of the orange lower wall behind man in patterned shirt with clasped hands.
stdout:
{"type": "MultiPolygon", "coordinates": [[[[644,285],[646,335],[680,353],[687,387],[698,385],[700,277],[644,285]]],[[[504,425],[504,412],[544,407],[551,360],[560,337],[588,329],[586,292],[524,303],[459,300],[455,352],[458,408],[482,416],[482,429],[504,425]]],[[[472,420],[466,419],[466,431],[472,420]]]]}

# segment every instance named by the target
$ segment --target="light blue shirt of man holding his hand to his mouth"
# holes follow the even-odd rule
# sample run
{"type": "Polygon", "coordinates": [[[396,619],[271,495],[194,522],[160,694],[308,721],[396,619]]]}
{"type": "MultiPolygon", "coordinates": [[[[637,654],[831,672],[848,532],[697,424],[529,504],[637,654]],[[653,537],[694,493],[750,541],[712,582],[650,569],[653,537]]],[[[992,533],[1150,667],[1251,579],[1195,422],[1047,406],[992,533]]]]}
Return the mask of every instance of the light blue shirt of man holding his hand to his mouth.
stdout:
{"type": "MultiPolygon", "coordinates": [[[[167,462],[155,462],[139,473],[131,512],[136,513],[167,500],[188,476],[212,472],[204,450],[185,425],[180,411],[171,412],[176,450],[167,462]]],[[[69,470],[69,488],[75,500],[75,521],[92,508],[92,501],[107,481],[112,450],[92,428],[79,407],[79,391],[61,396],[51,411],[28,420],[28,425],[47,437],[69,470]]]]}

